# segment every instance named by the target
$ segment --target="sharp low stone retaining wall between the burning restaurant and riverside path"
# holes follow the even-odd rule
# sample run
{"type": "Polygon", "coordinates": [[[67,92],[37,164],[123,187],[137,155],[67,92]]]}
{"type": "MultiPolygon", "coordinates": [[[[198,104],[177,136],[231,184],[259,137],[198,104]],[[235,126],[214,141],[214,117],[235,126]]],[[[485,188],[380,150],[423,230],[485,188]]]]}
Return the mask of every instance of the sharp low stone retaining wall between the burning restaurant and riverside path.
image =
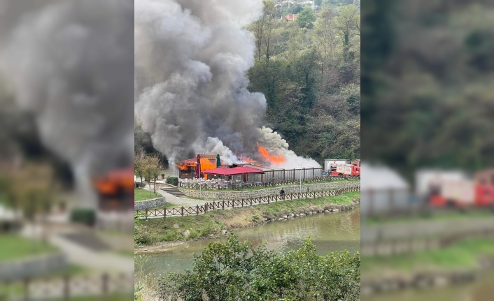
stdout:
{"type": "MultiPolygon", "coordinates": [[[[302,192],[307,191],[328,191],[333,189],[344,189],[349,187],[360,187],[360,182],[324,182],[318,184],[302,185],[302,192]]],[[[266,188],[250,191],[202,191],[202,198],[206,200],[240,200],[242,198],[259,198],[264,196],[276,196],[280,194],[281,189],[285,193],[298,193],[298,185],[278,186],[276,188],[266,188]]],[[[180,190],[186,196],[199,198],[199,189],[183,189],[180,190]]]]}

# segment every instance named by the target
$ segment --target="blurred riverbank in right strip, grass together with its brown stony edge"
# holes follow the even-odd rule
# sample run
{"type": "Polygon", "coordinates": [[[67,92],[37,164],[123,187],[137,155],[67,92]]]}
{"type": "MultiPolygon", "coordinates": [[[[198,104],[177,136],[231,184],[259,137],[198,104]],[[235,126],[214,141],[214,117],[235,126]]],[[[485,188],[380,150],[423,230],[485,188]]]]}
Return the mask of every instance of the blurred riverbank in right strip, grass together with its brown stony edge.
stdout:
{"type": "Polygon", "coordinates": [[[444,249],[362,256],[362,294],[474,281],[494,264],[494,241],[470,239],[444,249]]]}

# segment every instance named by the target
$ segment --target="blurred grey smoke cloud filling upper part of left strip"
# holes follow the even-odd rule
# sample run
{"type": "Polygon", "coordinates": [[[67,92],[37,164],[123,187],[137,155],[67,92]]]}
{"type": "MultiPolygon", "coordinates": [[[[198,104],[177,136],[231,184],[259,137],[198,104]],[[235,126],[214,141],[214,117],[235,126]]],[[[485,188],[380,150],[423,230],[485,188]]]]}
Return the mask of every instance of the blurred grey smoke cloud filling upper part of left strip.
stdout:
{"type": "Polygon", "coordinates": [[[92,176],[132,164],[132,1],[1,3],[2,80],[90,191],[92,176]]]}

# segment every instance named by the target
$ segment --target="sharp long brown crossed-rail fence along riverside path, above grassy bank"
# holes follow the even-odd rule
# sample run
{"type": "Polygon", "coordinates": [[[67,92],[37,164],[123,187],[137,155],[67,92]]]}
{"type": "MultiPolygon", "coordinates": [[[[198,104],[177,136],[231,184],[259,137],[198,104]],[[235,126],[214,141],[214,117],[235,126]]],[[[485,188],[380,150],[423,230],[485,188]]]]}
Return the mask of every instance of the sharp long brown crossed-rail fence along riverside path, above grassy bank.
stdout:
{"type": "Polygon", "coordinates": [[[195,207],[178,207],[178,208],[162,208],[162,209],[146,209],[137,210],[134,214],[135,219],[166,218],[167,216],[190,216],[205,214],[211,210],[225,210],[225,208],[253,206],[260,204],[269,204],[278,202],[278,200],[297,200],[301,198],[320,198],[323,196],[337,196],[341,193],[351,191],[360,191],[360,186],[348,187],[345,189],[337,189],[331,191],[309,191],[300,193],[286,193],[283,196],[261,196],[258,198],[242,198],[241,200],[222,200],[218,202],[206,203],[204,205],[196,205],[195,207]]]}

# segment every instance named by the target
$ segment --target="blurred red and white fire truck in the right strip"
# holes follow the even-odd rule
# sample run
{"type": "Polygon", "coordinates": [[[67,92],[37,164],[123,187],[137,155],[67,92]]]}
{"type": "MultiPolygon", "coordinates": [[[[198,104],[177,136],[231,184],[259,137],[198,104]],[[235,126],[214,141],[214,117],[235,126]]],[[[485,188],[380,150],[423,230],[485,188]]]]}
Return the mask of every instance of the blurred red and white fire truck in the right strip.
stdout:
{"type": "MultiPolygon", "coordinates": [[[[477,172],[473,179],[435,172],[423,181],[426,199],[434,207],[489,207],[494,210],[494,171],[477,172]]],[[[423,176],[423,178],[425,178],[423,176]]]]}

